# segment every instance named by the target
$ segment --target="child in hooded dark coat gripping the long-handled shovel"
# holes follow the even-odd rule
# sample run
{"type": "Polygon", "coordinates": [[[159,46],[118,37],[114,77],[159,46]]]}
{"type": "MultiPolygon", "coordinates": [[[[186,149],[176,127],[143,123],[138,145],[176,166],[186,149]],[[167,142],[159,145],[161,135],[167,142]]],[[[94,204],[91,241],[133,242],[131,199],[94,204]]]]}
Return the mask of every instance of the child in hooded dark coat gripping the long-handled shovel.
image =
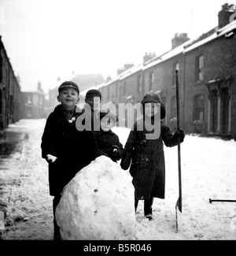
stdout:
{"type": "Polygon", "coordinates": [[[164,198],[163,142],[166,147],[174,147],[178,145],[178,139],[181,143],[183,142],[185,135],[181,129],[172,134],[170,128],[161,121],[165,117],[165,109],[158,95],[147,94],[141,103],[143,119],[137,121],[131,130],[120,165],[125,170],[131,165],[130,173],[135,187],[135,210],[138,207],[138,200],[144,200],[144,215],[152,220],[153,198],[164,198]],[[157,103],[160,104],[160,108],[158,108],[157,103]],[[160,136],[158,138],[148,139],[152,131],[146,128],[146,122],[149,124],[159,122],[160,136]]]}

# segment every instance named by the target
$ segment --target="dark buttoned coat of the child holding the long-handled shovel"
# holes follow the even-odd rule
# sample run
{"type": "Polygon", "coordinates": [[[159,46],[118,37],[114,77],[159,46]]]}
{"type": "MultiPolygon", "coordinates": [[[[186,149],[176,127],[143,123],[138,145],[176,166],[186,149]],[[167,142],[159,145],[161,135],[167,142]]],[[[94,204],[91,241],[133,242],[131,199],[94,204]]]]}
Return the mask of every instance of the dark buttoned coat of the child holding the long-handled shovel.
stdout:
{"type": "Polygon", "coordinates": [[[133,177],[136,199],[148,199],[149,196],[164,198],[164,144],[167,147],[176,146],[178,138],[163,121],[160,121],[160,137],[146,139],[149,132],[145,127],[140,131],[140,125],[143,125],[142,121],[138,121],[131,130],[120,165],[123,169],[128,169],[131,165],[130,173],[133,177]]]}

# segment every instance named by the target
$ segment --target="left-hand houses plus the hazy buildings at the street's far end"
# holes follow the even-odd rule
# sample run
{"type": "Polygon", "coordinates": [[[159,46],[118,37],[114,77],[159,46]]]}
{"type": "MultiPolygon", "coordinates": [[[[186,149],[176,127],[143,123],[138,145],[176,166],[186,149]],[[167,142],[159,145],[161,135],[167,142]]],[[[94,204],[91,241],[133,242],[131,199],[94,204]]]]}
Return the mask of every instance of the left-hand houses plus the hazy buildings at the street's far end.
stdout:
{"type": "MultiPolygon", "coordinates": [[[[42,90],[40,81],[35,90],[21,91],[20,77],[13,71],[6,48],[2,43],[2,36],[0,36],[0,52],[0,131],[23,118],[48,117],[59,104],[57,95],[58,87],[62,83],[61,79],[57,78],[48,93],[42,90]]],[[[82,91],[105,81],[101,74],[73,75],[68,80],[78,83],[82,91]]]]}

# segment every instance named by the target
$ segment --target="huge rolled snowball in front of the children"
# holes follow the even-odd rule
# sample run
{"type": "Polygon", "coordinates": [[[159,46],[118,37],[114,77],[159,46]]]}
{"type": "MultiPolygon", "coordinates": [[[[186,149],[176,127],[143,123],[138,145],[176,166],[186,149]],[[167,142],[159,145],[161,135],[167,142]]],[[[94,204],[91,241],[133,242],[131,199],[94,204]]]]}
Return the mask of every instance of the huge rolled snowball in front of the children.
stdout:
{"type": "Polygon", "coordinates": [[[62,239],[135,239],[131,175],[101,156],[65,186],[56,209],[62,239]]]}

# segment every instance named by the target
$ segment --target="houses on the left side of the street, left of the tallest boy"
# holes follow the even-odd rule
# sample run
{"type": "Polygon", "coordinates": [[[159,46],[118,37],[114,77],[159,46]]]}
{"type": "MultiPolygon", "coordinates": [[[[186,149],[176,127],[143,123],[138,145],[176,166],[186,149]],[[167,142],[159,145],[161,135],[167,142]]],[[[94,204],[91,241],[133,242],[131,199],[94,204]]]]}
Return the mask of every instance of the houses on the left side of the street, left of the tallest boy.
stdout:
{"type": "Polygon", "coordinates": [[[21,91],[20,77],[16,76],[0,36],[0,131],[22,118],[44,118],[45,94],[41,83],[35,91],[21,91]]]}

